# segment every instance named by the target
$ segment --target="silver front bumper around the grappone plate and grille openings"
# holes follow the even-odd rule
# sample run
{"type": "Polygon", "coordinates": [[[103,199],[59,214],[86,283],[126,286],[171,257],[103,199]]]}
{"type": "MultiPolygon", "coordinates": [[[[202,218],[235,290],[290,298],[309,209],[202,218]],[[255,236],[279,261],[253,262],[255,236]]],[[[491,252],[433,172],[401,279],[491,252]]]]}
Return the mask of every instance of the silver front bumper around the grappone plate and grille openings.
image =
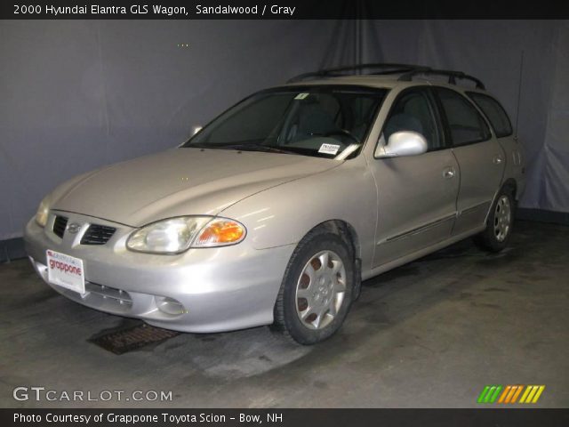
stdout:
{"type": "Polygon", "coordinates": [[[59,213],[85,230],[91,223],[116,228],[105,245],[81,245],[81,231],[59,238],[28,222],[25,244],[40,277],[47,282],[45,251],[81,258],[85,294],[52,286],[69,299],[108,313],[140,318],[182,332],[220,332],[273,322],[273,308],[294,246],[257,250],[247,239],[235,246],[190,249],[183,254],[140,254],[126,249],[132,228],[81,214],[59,213]]]}

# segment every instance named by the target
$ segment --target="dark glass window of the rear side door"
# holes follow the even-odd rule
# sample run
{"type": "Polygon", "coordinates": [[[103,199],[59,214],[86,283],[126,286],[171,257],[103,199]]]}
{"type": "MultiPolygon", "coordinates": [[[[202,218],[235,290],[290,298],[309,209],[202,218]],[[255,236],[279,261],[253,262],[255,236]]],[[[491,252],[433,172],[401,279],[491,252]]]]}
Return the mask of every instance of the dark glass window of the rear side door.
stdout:
{"type": "Polygon", "coordinates": [[[445,111],[453,145],[471,144],[490,138],[490,129],[484,117],[466,98],[460,93],[440,87],[437,88],[437,93],[445,111]]]}

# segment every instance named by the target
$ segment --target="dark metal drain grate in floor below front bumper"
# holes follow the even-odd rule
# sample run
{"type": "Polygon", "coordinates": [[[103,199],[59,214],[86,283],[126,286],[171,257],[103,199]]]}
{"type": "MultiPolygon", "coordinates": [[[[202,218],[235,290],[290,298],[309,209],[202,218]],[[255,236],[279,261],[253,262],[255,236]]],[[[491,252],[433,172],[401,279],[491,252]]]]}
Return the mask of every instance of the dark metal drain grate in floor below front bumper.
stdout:
{"type": "Polygon", "coordinates": [[[88,341],[97,344],[105,350],[115,354],[124,354],[128,351],[138,350],[147,345],[157,345],[179,335],[179,332],[161,329],[159,327],[139,324],[120,330],[103,331],[88,341]]]}

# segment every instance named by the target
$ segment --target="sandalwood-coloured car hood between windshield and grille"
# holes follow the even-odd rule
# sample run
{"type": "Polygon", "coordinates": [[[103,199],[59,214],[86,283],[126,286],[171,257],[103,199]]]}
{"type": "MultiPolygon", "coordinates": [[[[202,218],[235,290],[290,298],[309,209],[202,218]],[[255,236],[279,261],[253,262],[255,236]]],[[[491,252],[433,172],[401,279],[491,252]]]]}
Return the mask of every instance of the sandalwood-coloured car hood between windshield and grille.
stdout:
{"type": "Polygon", "coordinates": [[[228,149],[169,149],[85,173],[52,192],[52,209],[140,227],[217,215],[245,197],[341,162],[228,149]]]}

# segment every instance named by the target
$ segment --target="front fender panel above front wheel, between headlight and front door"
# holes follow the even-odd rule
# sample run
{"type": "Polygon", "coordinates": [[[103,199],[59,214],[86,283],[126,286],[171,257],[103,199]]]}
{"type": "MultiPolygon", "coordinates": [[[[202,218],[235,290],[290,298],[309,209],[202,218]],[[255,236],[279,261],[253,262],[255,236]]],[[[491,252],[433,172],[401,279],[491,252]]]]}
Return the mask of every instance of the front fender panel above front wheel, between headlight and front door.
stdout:
{"type": "Polygon", "coordinates": [[[220,215],[242,222],[256,249],[298,243],[322,222],[347,222],[357,233],[365,264],[373,256],[377,189],[365,157],[359,156],[246,197],[220,215]]]}

